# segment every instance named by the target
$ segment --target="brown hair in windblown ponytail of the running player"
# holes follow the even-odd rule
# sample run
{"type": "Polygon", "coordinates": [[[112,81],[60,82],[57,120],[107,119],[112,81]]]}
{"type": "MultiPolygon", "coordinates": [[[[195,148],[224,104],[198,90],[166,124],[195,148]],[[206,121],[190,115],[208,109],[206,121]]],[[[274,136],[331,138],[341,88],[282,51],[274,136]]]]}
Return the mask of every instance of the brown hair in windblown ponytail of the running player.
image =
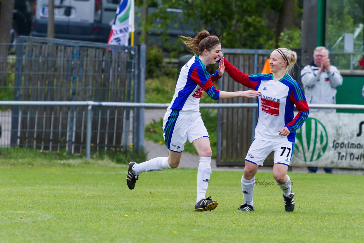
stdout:
{"type": "Polygon", "coordinates": [[[197,33],[195,38],[191,36],[183,36],[179,35],[182,42],[185,43],[187,47],[189,47],[193,52],[193,54],[199,55],[203,50],[211,51],[211,49],[220,44],[219,38],[215,35],[210,35],[209,31],[202,30],[197,33]]]}

